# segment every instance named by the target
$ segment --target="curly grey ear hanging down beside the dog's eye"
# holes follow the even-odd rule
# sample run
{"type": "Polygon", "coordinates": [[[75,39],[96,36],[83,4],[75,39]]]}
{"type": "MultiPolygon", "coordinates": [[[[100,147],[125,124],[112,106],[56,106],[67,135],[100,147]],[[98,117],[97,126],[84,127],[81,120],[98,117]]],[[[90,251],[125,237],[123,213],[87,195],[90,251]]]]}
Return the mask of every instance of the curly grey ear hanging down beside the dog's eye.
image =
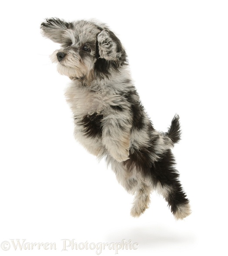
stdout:
{"type": "Polygon", "coordinates": [[[119,66],[127,61],[120,40],[109,29],[105,28],[97,35],[97,42],[100,58],[115,61],[119,66]]]}

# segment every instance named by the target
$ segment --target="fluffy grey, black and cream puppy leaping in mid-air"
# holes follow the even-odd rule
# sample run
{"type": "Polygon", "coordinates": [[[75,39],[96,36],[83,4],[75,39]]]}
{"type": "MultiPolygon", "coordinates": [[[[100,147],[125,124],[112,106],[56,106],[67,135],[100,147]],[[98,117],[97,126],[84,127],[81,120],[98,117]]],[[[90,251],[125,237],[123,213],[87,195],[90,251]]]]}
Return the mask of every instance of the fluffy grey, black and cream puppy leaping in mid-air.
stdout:
{"type": "Polygon", "coordinates": [[[74,135],[88,152],[105,157],[118,182],[135,195],[131,216],[148,208],[157,190],[176,219],[191,213],[171,152],[180,140],[179,116],[159,132],[145,112],[128,69],[127,54],[117,36],[92,21],[48,18],[44,37],[61,45],[50,57],[70,78],[65,95],[74,114],[74,135]]]}

